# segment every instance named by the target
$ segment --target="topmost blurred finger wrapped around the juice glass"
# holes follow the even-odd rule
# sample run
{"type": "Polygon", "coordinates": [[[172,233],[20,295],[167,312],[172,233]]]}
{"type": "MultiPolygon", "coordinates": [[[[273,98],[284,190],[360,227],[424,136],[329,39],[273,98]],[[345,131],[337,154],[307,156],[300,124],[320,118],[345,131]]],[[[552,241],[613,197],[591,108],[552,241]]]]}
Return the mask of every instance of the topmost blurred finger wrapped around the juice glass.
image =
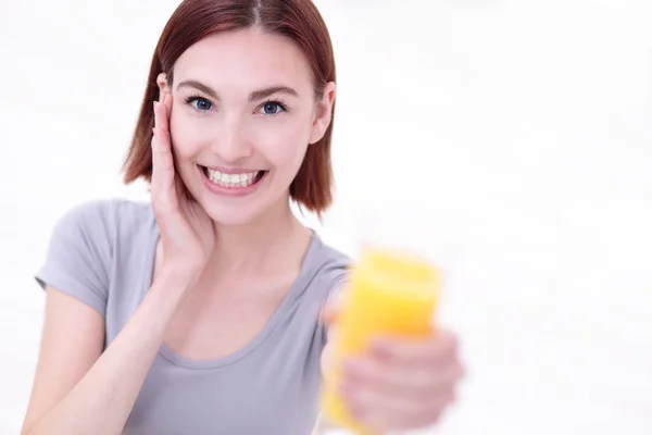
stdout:
{"type": "Polygon", "coordinates": [[[373,340],[369,352],[388,364],[444,363],[457,359],[457,339],[444,330],[437,331],[427,338],[379,337],[373,340]]]}

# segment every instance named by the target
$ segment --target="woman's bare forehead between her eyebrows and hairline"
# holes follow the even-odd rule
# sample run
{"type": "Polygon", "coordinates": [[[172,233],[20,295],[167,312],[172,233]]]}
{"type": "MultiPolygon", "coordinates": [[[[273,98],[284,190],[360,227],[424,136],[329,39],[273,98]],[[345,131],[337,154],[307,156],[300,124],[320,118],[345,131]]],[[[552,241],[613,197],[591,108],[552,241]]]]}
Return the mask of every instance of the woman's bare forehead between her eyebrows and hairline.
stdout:
{"type": "Polygon", "coordinates": [[[299,47],[256,28],[213,34],[189,47],[174,65],[174,82],[190,78],[220,92],[277,85],[300,94],[312,89],[312,73],[299,47]]]}

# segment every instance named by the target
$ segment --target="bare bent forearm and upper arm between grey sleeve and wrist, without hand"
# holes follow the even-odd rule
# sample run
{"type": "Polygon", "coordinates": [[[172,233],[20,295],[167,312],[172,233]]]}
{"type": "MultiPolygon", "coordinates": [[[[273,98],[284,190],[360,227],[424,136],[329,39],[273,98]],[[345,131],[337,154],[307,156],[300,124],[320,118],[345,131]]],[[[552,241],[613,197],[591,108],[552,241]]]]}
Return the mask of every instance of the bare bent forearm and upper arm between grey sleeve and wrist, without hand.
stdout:
{"type": "Polygon", "coordinates": [[[48,287],[40,357],[22,434],[120,434],[185,283],[179,275],[163,273],[103,353],[102,316],[48,287]]]}

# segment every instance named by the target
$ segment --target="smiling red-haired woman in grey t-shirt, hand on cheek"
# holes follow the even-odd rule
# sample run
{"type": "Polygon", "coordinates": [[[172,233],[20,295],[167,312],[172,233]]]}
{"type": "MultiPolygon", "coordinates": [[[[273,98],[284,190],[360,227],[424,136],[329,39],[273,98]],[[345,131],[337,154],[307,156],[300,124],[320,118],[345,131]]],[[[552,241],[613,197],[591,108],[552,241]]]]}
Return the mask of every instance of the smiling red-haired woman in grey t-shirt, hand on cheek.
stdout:
{"type": "MultiPolygon", "coordinates": [[[[311,432],[319,313],[348,259],[289,201],[330,203],[335,94],[310,0],[178,7],[125,162],[151,203],[70,211],[37,274],[47,309],[24,434],[311,432]]],[[[436,421],[461,374],[450,335],[379,345],[350,361],[351,411],[380,431],[436,421]]]]}

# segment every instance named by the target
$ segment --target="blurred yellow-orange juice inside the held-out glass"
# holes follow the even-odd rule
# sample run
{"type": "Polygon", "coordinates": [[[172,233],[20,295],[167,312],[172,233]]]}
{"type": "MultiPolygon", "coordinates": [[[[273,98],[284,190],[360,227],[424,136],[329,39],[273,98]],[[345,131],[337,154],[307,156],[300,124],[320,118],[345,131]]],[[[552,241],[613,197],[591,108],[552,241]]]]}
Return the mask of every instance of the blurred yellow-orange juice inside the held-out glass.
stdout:
{"type": "Polygon", "coordinates": [[[425,259],[371,249],[352,269],[344,307],[333,337],[333,364],[325,373],[322,407],[329,423],[364,434],[339,395],[342,358],[364,352],[377,336],[418,339],[432,331],[439,271],[425,259]]]}

